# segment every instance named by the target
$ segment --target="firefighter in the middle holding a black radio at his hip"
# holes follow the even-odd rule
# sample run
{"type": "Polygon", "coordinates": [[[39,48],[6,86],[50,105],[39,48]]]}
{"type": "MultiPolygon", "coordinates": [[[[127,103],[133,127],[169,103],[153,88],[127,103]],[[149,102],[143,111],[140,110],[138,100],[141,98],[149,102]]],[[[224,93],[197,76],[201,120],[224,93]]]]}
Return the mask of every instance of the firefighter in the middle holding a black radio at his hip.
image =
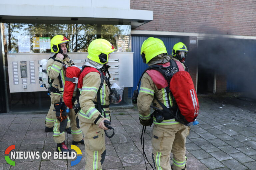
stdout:
{"type": "Polygon", "coordinates": [[[86,165],[85,169],[102,169],[105,159],[104,121],[110,120],[110,83],[106,78],[108,58],[114,46],[104,39],[93,40],[88,46],[88,60],[79,76],[80,111],[79,126],[84,134],[86,165]]]}

